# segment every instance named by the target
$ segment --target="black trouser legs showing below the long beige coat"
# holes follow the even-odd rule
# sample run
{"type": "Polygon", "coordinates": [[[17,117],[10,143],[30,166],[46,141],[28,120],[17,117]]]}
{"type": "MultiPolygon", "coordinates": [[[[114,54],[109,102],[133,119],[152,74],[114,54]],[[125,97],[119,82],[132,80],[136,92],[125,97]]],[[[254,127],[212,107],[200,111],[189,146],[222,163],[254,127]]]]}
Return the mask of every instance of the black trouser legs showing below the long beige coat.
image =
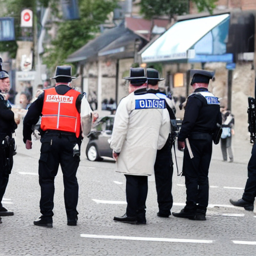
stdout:
{"type": "Polygon", "coordinates": [[[126,214],[129,217],[145,216],[147,176],[124,174],[126,177],[126,214]]]}

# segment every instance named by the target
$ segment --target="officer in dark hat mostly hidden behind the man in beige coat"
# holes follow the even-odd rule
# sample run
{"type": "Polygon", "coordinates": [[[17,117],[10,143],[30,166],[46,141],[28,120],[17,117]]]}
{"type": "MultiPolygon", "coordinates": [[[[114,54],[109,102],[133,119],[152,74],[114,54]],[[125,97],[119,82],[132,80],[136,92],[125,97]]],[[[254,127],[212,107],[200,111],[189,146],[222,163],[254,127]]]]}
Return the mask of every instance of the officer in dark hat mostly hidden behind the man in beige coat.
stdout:
{"type": "MultiPolygon", "coordinates": [[[[163,78],[159,78],[159,72],[154,68],[148,67],[146,68],[146,76],[147,87],[156,90],[156,95],[167,101],[166,106],[168,106],[170,119],[175,119],[174,111],[172,110],[175,109],[174,104],[158,88],[158,81],[163,80],[163,78]]],[[[164,146],[157,150],[154,163],[154,177],[159,208],[157,216],[159,217],[168,217],[171,214],[170,209],[173,203],[171,194],[173,173],[171,147],[172,143],[169,134],[164,146]]]]}

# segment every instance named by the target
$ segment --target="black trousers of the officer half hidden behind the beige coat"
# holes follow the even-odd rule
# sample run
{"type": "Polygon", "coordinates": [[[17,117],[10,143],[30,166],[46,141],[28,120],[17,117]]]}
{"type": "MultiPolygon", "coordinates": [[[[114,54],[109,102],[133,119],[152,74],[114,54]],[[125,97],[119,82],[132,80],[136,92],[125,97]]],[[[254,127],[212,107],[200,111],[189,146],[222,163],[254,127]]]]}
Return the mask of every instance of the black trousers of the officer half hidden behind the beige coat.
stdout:
{"type": "Polygon", "coordinates": [[[170,135],[165,145],[157,150],[154,163],[154,177],[159,213],[170,214],[173,199],[171,194],[173,162],[170,135]]]}

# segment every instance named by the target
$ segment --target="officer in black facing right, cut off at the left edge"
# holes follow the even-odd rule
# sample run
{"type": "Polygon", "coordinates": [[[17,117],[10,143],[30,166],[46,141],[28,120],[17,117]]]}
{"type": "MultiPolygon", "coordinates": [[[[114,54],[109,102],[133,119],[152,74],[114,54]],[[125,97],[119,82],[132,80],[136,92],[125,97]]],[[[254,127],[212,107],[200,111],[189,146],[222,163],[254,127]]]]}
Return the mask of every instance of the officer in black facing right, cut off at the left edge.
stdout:
{"type": "Polygon", "coordinates": [[[1,203],[13,165],[14,139],[12,133],[17,128],[14,113],[4,97],[9,89],[9,75],[7,71],[1,69],[0,58],[0,216],[13,215],[13,211],[7,210],[1,203]]]}

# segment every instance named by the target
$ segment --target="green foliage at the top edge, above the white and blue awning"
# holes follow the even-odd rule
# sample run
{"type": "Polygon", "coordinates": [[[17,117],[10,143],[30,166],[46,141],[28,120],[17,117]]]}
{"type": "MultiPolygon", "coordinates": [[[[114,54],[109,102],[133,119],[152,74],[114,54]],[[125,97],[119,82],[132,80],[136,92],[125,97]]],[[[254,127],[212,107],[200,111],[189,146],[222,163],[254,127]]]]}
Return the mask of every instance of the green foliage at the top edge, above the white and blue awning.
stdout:
{"type": "MultiPolygon", "coordinates": [[[[191,0],[198,11],[207,9],[211,14],[217,0],[191,0]]],[[[145,18],[167,15],[171,19],[174,15],[186,14],[189,11],[189,0],[141,0],[140,13],[145,18]]]]}

